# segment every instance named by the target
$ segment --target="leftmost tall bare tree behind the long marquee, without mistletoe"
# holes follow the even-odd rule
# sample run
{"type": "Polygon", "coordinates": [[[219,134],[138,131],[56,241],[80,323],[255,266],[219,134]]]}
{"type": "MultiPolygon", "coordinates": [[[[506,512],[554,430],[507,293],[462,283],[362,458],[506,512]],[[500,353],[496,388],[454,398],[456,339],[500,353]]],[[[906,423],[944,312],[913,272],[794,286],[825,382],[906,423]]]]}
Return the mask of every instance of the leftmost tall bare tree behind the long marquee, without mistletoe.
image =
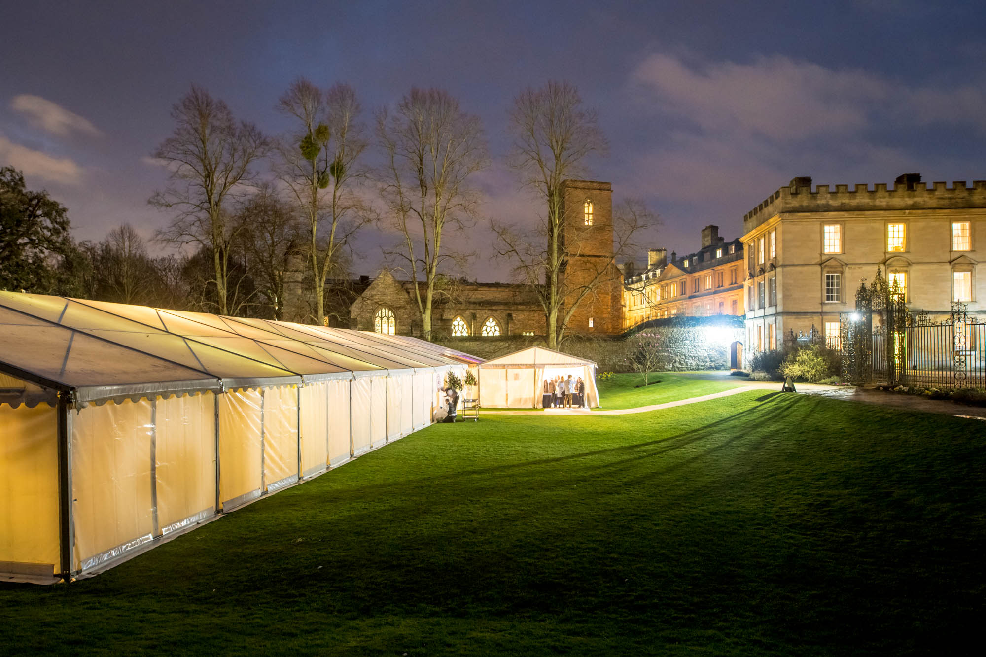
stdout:
{"type": "Polygon", "coordinates": [[[159,238],[209,251],[216,310],[227,315],[230,255],[238,232],[229,205],[254,182],[251,167],[267,154],[269,144],[252,123],[238,123],[225,103],[200,87],[192,86],[175,104],[172,118],[175,132],[154,153],[171,172],[171,183],[149,202],[176,209],[178,215],[159,238]]]}

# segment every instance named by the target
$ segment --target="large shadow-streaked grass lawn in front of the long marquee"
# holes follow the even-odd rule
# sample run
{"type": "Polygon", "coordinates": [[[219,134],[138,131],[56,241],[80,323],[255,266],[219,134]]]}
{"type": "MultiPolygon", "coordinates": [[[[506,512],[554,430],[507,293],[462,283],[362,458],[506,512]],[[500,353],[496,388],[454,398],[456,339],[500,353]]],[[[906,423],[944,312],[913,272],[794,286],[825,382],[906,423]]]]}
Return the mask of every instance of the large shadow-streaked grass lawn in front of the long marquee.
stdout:
{"type": "Polygon", "coordinates": [[[0,653],[954,652],[984,434],[764,391],[434,425],[96,578],[0,585],[0,653]]]}

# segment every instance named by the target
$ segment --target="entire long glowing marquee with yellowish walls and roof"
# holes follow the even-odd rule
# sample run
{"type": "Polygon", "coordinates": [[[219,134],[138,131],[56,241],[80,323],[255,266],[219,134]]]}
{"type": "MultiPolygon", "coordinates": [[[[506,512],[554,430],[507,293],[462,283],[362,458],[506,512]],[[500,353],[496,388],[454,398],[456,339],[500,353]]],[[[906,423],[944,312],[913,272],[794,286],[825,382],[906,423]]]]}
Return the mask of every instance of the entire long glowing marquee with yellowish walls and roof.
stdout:
{"type": "Polygon", "coordinates": [[[0,292],[0,572],[138,547],[433,421],[480,359],[413,337],[0,292]]]}

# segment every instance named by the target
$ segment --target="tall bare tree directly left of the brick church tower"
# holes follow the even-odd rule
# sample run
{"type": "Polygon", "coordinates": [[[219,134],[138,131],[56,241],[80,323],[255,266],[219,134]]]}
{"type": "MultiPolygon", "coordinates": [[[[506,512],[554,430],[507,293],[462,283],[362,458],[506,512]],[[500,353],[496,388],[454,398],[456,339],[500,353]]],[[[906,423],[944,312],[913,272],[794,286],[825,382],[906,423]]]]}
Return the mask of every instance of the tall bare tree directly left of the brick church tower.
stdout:
{"type": "MultiPolygon", "coordinates": [[[[565,326],[564,322],[559,323],[559,313],[566,301],[562,288],[568,259],[562,183],[583,177],[587,157],[605,151],[606,140],[599,129],[596,112],[583,109],[578,89],[567,82],[552,81],[540,89],[528,87],[522,91],[514,99],[510,112],[510,132],[513,137],[510,165],[518,172],[521,183],[542,200],[547,211],[537,231],[545,238],[546,247],[524,245],[509,227],[494,228],[501,236],[501,252],[521,262],[521,272],[538,290],[544,307],[548,346],[555,348],[565,326]]],[[[574,306],[568,310],[574,310],[574,306]]]]}

